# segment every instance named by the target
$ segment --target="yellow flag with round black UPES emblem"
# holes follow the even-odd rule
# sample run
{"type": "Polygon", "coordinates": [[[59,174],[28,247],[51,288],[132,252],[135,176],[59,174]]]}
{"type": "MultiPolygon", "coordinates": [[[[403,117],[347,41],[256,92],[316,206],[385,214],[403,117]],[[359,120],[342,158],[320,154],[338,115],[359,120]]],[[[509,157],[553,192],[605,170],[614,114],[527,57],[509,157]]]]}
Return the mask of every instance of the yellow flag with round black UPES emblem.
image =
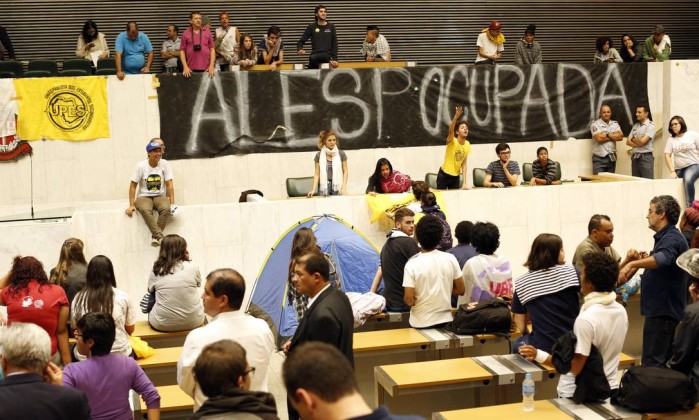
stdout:
{"type": "Polygon", "coordinates": [[[94,140],[109,137],[104,77],[14,79],[23,140],[94,140]]]}

